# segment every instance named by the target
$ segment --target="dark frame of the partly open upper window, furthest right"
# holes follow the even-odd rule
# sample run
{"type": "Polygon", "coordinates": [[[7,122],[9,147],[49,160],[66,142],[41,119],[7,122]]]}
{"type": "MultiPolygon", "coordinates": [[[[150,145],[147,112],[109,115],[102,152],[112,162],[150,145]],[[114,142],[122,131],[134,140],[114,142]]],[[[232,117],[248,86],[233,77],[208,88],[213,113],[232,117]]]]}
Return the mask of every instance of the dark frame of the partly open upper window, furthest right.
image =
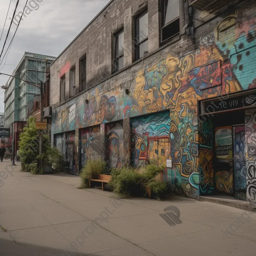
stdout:
{"type": "MultiPolygon", "coordinates": [[[[166,38],[166,39],[163,40],[163,29],[170,27],[170,25],[171,25],[171,24],[174,24],[174,23],[175,23],[175,24],[176,24],[176,23],[179,24],[179,18],[180,18],[180,14],[179,14],[176,18],[170,20],[167,24],[164,24],[164,22],[165,22],[165,15],[166,15],[166,11],[165,11],[165,7],[166,7],[165,3],[166,3],[166,1],[171,1],[171,2],[172,2],[172,0],[160,0],[160,3],[161,3],[161,4],[160,4],[160,9],[161,9],[161,37],[160,37],[161,45],[164,45],[164,44],[168,43],[168,42],[171,41],[175,36],[178,36],[178,35],[180,34],[180,27],[179,27],[177,33],[175,33],[175,34],[173,34],[173,35],[170,35],[168,38],[166,38]]],[[[179,10],[179,11],[180,11],[180,10],[179,10]]],[[[175,25],[175,24],[174,24],[174,25],[175,25]]],[[[176,24],[176,25],[177,25],[177,24],[176,24]]]]}

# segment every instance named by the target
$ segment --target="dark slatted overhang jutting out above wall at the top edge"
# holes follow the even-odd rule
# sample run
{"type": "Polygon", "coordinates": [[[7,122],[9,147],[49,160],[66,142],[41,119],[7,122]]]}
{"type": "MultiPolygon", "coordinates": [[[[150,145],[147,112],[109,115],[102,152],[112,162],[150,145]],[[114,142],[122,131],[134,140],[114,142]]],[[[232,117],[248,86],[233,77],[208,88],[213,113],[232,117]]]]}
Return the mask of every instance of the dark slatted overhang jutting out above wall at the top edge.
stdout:
{"type": "Polygon", "coordinates": [[[230,0],[188,0],[190,6],[199,10],[214,11],[225,5],[230,0]]]}

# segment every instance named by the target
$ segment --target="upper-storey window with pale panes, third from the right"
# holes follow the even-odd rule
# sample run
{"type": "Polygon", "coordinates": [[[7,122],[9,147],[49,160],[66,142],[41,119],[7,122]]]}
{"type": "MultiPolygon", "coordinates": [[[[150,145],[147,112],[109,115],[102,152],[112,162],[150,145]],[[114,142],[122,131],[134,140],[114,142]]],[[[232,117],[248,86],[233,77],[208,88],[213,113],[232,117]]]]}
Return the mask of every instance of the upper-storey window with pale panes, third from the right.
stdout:
{"type": "Polygon", "coordinates": [[[114,36],[114,67],[116,72],[124,67],[124,30],[114,36]]]}

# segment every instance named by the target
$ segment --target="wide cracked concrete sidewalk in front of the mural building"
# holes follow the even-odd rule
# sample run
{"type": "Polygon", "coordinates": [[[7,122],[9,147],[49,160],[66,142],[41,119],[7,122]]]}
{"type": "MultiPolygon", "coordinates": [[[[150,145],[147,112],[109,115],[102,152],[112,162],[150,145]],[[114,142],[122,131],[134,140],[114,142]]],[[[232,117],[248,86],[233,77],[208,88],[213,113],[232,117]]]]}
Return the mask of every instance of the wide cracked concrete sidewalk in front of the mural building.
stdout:
{"type": "Polygon", "coordinates": [[[181,196],[119,200],[77,189],[77,176],[8,164],[0,162],[0,255],[255,255],[254,212],[181,196]]]}

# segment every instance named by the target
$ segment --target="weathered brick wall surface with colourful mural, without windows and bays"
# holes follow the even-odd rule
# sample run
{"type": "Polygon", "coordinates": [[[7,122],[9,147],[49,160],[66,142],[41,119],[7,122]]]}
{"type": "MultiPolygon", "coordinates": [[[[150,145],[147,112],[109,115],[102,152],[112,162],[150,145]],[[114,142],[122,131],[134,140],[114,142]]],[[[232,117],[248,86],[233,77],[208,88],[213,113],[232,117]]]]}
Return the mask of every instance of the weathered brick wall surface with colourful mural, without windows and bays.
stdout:
{"type": "MultiPolygon", "coordinates": [[[[156,2],[158,4],[158,1],[152,0],[151,5],[148,5],[149,39],[151,38],[149,49],[151,50],[143,58],[143,61],[139,60],[131,64],[133,56],[127,55],[125,63],[130,66],[110,75],[111,31],[115,31],[122,23],[129,30],[133,26],[130,18],[140,7],[144,6],[142,2],[140,6],[139,3],[133,1],[123,4],[116,1],[112,2],[103,14],[107,12],[107,16],[115,3],[115,12],[112,14],[113,19],[110,24],[115,20],[116,10],[121,10],[120,6],[125,6],[123,13],[126,16],[123,17],[120,12],[119,15],[122,17],[120,20],[118,19],[119,22],[115,20],[117,25],[111,25],[109,30],[104,26],[98,28],[100,31],[105,28],[106,31],[106,41],[102,40],[100,44],[101,47],[106,47],[105,53],[101,52],[101,54],[105,54],[103,57],[101,54],[96,56],[94,50],[88,52],[87,46],[83,47],[83,44],[79,46],[78,40],[80,37],[82,38],[81,34],[73,45],[54,62],[51,66],[51,105],[55,107],[52,116],[52,134],[69,130],[77,130],[78,134],[78,129],[82,127],[163,110],[169,111],[169,132],[172,136],[169,139],[171,152],[168,159],[173,159],[174,163],[173,168],[167,171],[167,177],[173,189],[178,193],[197,198],[202,185],[202,183],[200,184],[202,178],[199,177],[199,169],[202,167],[200,159],[205,158],[206,155],[209,161],[212,159],[210,150],[198,146],[200,136],[197,118],[198,100],[256,86],[255,1],[246,1],[237,5],[236,8],[233,8],[233,5],[241,1],[232,1],[231,6],[224,6],[221,9],[227,11],[225,13],[217,12],[216,17],[212,15],[207,17],[205,13],[196,11],[195,39],[185,35],[182,32],[184,29],[181,27],[181,35],[161,48],[157,46],[158,29],[155,33],[154,29],[151,30],[159,26],[159,24],[157,26],[155,24],[157,22],[155,9],[150,10],[152,6],[155,8],[156,2]],[[200,17],[203,17],[205,22],[199,22],[200,17]],[[73,48],[75,45],[77,48],[73,48]],[[78,65],[79,56],[85,52],[88,54],[88,63],[91,64],[94,59],[88,69],[90,81],[99,81],[99,73],[104,68],[110,76],[97,86],[64,104],[58,103],[58,70],[69,61],[70,66],[75,62],[78,65]],[[129,95],[125,93],[125,89],[129,89],[129,95]],[[86,103],[86,100],[89,102],[86,103]],[[176,185],[177,182],[179,186],[176,185]]],[[[183,3],[180,4],[181,10],[182,7],[183,3]]],[[[180,12],[180,24],[184,24],[184,15],[182,15],[182,11],[180,12]]],[[[103,18],[104,15],[100,15],[94,23],[99,23],[103,18]]],[[[93,26],[95,26],[94,23],[93,26]]],[[[94,33],[97,34],[96,29],[94,33]]],[[[90,38],[90,34],[88,37],[90,38]]],[[[125,33],[124,37],[127,40],[124,47],[131,46],[132,37],[129,39],[129,33],[125,33]]],[[[98,50],[99,42],[93,47],[98,50]]],[[[68,81],[67,76],[69,76],[69,72],[66,73],[68,81]]],[[[136,143],[135,147],[137,148],[136,143]]],[[[78,146],[78,144],[76,145],[78,146]]],[[[203,168],[200,169],[200,172],[202,172],[200,175],[204,176],[204,188],[210,187],[213,184],[213,169],[211,167],[203,168]]]]}

